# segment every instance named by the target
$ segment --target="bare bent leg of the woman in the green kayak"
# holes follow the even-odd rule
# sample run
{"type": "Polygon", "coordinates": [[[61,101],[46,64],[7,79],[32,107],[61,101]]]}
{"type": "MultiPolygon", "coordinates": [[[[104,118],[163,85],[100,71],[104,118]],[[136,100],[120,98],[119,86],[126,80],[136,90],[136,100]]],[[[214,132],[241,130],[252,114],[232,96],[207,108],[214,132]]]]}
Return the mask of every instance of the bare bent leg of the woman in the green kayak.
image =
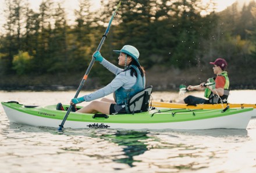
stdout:
{"type": "Polygon", "coordinates": [[[109,109],[112,103],[110,102],[102,102],[102,101],[93,101],[87,106],[77,110],[76,112],[79,113],[102,113],[102,114],[109,114],[109,109]]]}

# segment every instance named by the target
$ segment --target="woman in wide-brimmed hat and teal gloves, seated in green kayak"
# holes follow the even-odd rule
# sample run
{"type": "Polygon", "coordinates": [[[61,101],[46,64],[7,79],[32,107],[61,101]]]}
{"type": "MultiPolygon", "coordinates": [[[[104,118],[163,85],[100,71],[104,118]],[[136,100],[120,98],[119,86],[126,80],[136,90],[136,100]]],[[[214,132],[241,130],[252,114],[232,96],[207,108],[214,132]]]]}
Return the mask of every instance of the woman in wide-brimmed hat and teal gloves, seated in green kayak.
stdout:
{"type": "Polygon", "coordinates": [[[131,96],[136,92],[145,88],[145,71],[140,63],[138,57],[140,53],[131,45],[125,45],[120,51],[114,50],[119,54],[118,64],[124,66],[125,69],[120,69],[112,63],[108,62],[98,51],[94,53],[95,61],[99,61],[106,69],[111,71],[116,77],[106,85],[89,95],[80,98],[74,98],[70,104],[77,104],[81,102],[91,102],[87,106],[77,110],[80,113],[103,113],[103,114],[117,114],[127,113],[125,105],[131,96]],[[114,93],[114,100],[102,98],[110,93],[114,93]],[[95,100],[102,98],[100,101],[95,100]]]}

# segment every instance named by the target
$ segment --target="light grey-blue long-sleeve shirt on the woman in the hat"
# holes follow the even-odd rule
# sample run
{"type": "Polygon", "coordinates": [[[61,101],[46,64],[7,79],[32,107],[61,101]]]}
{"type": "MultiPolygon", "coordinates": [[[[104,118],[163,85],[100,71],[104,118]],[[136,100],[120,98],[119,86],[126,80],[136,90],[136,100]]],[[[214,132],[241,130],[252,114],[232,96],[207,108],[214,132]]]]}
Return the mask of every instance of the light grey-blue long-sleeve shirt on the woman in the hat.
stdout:
{"type": "Polygon", "coordinates": [[[103,59],[101,62],[102,66],[111,71],[116,77],[104,88],[98,89],[97,91],[90,93],[84,96],[86,102],[90,102],[95,99],[103,98],[106,95],[109,95],[120,87],[125,89],[130,89],[136,83],[137,77],[135,75],[130,75],[130,70],[123,71],[119,67],[116,67],[114,64],[108,62],[108,60],[103,59]]]}

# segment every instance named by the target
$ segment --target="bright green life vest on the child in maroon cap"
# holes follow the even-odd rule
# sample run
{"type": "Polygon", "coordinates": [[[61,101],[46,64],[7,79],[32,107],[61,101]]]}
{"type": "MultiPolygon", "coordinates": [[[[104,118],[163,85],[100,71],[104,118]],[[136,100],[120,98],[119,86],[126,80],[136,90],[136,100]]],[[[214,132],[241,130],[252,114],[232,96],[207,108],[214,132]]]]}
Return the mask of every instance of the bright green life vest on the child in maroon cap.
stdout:
{"type": "MultiPolygon", "coordinates": [[[[229,96],[229,77],[227,77],[227,72],[223,71],[221,74],[223,77],[225,77],[225,85],[224,85],[224,93],[223,96],[218,96],[214,93],[212,93],[211,89],[205,88],[204,96],[205,98],[209,99],[209,103],[227,103],[227,98],[229,96]]],[[[209,78],[207,82],[215,82],[215,78],[209,78]]],[[[215,84],[211,85],[212,89],[215,89],[215,84]]]]}

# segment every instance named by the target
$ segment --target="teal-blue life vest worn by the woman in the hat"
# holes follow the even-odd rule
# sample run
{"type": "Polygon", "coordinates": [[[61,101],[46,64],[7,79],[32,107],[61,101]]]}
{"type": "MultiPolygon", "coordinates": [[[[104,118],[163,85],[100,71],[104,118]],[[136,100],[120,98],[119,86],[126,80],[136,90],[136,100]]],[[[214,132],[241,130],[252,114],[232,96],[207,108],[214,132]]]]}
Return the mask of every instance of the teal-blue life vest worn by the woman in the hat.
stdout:
{"type": "Polygon", "coordinates": [[[136,83],[130,89],[125,89],[120,87],[118,90],[115,91],[114,98],[117,104],[119,105],[127,105],[127,102],[131,96],[135,95],[137,92],[143,90],[145,88],[145,77],[141,76],[140,70],[138,70],[137,66],[131,65],[127,67],[126,70],[133,68],[136,70],[137,73],[137,80],[136,83]]]}

